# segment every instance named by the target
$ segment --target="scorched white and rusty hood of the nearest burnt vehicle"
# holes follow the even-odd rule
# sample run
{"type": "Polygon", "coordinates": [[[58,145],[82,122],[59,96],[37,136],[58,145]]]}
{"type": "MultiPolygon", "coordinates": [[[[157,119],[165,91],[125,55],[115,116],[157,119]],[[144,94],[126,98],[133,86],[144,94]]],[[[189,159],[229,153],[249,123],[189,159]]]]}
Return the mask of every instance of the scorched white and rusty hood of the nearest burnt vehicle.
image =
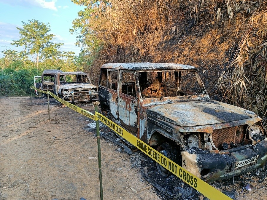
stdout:
{"type": "Polygon", "coordinates": [[[200,126],[238,121],[257,115],[234,105],[202,99],[152,105],[147,109],[147,117],[150,116],[179,126],[200,126]]]}

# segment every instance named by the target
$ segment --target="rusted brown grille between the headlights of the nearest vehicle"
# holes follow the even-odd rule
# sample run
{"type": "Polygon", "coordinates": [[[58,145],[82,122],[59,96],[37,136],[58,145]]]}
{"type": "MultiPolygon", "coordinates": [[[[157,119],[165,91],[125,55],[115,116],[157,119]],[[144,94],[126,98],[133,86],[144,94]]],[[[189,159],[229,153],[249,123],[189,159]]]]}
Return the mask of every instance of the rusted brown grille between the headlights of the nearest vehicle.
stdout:
{"type": "MultiPolygon", "coordinates": [[[[212,141],[218,149],[222,149],[222,143],[235,142],[236,127],[214,130],[212,133],[212,141]]],[[[230,147],[230,145],[229,145],[230,147]]]]}

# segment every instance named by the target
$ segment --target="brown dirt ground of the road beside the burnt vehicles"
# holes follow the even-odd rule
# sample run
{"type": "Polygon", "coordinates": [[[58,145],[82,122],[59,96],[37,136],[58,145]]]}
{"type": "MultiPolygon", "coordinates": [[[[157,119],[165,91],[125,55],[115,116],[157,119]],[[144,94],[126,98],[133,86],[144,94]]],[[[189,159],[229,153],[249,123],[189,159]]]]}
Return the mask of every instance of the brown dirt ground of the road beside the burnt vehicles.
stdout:
{"type": "MultiPolygon", "coordinates": [[[[93,113],[92,104],[78,106],[93,113]]],[[[0,96],[0,127],[0,200],[100,199],[98,160],[88,159],[98,157],[93,120],[54,99],[48,120],[47,99],[33,98],[31,106],[29,97],[0,96]]],[[[100,129],[102,134],[113,134],[103,124],[100,129]]],[[[149,187],[142,176],[141,168],[148,165],[155,170],[155,163],[140,151],[134,152],[129,155],[101,138],[104,199],[168,199],[149,187]]],[[[228,179],[212,185],[233,199],[265,200],[266,168],[235,177],[235,184],[228,179]],[[251,183],[255,190],[242,191],[243,182],[251,183]]],[[[157,180],[160,185],[170,183],[173,191],[187,186],[174,175],[161,180],[157,180]]],[[[187,199],[206,199],[191,189],[192,193],[196,195],[187,199]]]]}

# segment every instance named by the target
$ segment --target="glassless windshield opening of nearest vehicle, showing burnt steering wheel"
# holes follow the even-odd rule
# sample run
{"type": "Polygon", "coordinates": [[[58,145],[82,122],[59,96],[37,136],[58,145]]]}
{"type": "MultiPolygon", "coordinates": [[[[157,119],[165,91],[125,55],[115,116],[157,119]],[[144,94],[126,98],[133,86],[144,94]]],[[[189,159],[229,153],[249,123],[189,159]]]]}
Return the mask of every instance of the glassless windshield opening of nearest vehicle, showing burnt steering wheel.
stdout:
{"type": "Polygon", "coordinates": [[[206,94],[196,71],[139,72],[139,86],[143,98],[206,94]]]}

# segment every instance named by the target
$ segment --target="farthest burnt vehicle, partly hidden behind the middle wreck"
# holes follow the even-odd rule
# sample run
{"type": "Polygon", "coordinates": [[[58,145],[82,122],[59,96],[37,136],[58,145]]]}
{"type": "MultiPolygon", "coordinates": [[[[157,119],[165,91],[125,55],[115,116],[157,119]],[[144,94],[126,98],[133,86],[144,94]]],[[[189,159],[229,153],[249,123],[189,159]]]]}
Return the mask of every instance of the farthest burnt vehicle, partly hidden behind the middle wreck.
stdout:
{"type": "MultiPolygon", "coordinates": [[[[55,76],[57,73],[61,73],[61,70],[57,69],[47,69],[42,73],[42,82],[41,89],[45,91],[52,92],[54,91],[55,76]]],[[[45,94],[42,94],[45,95],[45,94]]]]}

